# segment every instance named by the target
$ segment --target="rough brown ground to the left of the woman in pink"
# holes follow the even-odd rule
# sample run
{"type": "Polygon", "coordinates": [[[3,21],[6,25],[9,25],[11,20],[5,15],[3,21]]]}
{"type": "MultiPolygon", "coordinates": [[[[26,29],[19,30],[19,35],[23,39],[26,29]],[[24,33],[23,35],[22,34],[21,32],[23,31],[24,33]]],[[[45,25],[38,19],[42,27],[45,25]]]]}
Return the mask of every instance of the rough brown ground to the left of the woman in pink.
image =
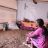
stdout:
{"type": "Polygon", "coordinates": [[[26,30],[0,31],[0,48],[29,48],[22,43],[25,41],[26,30]]]}

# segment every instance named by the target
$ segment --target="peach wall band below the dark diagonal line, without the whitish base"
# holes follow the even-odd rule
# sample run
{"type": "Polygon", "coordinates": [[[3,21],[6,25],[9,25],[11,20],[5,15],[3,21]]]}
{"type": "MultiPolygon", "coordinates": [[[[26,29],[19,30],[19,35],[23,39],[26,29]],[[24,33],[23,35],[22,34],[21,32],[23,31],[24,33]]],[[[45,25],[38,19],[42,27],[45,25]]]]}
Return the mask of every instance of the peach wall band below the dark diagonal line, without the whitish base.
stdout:
{"type": "Polygon", "coordinates": [[[16,11],[0,7],[0,23],[16,21],[16,11]]]}

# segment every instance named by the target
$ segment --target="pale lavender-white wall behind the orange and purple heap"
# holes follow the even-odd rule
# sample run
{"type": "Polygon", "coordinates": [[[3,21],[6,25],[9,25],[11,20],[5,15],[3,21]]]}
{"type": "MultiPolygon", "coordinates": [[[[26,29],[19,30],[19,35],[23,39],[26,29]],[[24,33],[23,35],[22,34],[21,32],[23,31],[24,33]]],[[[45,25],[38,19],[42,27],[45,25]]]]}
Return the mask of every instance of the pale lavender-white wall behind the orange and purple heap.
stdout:
{"type": "Polygon", "coordinates": [[[34,4],[32,0],[18,0],[17,20],[23,20],[24,17],[30,20],[36,20],[37,18],[47,20],[47,12],[48,4],[46,3],[34,4]]]}

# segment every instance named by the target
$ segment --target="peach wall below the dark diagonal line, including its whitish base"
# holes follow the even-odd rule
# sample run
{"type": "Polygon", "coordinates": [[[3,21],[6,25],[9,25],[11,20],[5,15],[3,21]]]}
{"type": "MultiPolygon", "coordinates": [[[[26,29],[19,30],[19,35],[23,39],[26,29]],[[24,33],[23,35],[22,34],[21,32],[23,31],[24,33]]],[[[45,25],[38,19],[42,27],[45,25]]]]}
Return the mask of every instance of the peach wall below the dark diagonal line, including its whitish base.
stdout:
{"type": "MultiPolygon", "coordinates": [[[[0,7],[0,23],[8,22],[9,28],[15,29],[16,25],[16,10],[0,7]]],[[[0,29],[3,25],[0,24],[0,29]]]]}

